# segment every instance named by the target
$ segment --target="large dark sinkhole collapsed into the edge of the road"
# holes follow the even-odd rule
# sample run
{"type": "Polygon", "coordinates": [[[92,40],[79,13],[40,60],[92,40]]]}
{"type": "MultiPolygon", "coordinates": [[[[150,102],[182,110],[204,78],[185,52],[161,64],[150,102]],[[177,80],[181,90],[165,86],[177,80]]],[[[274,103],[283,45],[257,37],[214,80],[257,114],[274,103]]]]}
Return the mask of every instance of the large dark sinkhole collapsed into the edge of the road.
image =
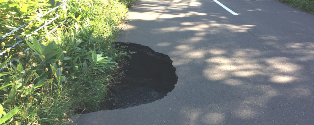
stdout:
{"type": "Polygon", "coordinates": [[[127,46],[126,52],[136,52],[131,58],[125,57],[125,77],[109,87],[112,95],[101,110],[128,108],[152,103],[164,98],[174,89],[178,81],[176,68],[168,55],[157,53],[148,46],[119,42],[127,46]]]}

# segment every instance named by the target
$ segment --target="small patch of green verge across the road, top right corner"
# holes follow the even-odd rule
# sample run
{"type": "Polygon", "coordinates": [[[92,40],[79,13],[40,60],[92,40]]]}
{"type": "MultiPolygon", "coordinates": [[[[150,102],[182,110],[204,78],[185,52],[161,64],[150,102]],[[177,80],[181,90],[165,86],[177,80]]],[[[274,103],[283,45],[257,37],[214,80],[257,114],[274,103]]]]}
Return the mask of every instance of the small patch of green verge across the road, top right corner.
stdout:
{"type": "Polygon", "coordinates": [[[314,14],[314,0],[279,0],[287,5],[314,14]]]}

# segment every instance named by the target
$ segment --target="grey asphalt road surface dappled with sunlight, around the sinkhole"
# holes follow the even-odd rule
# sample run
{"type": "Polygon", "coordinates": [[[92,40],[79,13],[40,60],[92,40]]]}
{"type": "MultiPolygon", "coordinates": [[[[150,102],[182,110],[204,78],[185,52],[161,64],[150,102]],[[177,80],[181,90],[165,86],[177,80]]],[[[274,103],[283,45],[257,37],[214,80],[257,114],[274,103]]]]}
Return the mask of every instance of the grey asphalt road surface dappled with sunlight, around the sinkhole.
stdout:
{"type": "Polygon", "coordinates": [[[276,0],[141,0],[120,42],[169,55],[178,82],[153,103],[75,124],[314,124],[314,15],[276,0]]]}

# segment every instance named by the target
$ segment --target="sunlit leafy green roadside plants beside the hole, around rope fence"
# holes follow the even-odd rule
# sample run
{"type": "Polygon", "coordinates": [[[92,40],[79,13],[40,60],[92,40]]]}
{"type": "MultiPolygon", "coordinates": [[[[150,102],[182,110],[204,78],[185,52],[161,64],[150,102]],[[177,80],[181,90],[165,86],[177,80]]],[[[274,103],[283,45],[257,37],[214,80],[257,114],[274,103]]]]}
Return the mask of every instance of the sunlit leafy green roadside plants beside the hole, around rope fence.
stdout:
{"type": "Polygon", "coordinates": [[[73,114],[98,111],[108,97],[107,86],[119,76],[118,62],[127,52],[115,44],[118,25],[136,1],[69,0],[38,18],[62,2],[0,0],[0,37],[35,19],[0,40],[0,52],[7,51],[0,56],[0,68],[5,67],[0,124],[71,123],[73,114]],[[28,34],[33,35],[9,48],[28,34]]]}

